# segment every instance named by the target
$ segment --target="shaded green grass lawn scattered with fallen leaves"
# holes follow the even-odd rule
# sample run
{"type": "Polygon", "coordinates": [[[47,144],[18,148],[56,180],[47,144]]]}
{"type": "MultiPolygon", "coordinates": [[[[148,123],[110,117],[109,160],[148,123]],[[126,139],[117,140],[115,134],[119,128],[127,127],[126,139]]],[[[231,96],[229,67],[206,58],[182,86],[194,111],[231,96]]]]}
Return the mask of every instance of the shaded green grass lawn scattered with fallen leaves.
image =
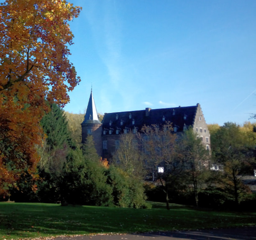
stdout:
{"type": "Polygon", "coordinates": [[[135,233],[256,225],[256,213],[153,203],[152,209],[0,203],[0,240],[93,233],[135,233]]]}

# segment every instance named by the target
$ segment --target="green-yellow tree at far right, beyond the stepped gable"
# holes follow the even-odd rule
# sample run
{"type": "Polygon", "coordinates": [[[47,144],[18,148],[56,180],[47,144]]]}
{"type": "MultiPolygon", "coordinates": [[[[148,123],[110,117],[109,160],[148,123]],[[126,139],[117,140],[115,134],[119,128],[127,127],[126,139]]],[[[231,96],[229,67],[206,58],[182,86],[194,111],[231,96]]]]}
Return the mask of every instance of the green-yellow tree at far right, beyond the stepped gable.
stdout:
{"type": "Polygon", "coordinates": [[[248,135],[233,122],[224,123],[211,135],[212,155],[215,163],[223,169],[218,186],[236,205],[249,192],[248,187],[243,184],[242,177],[245,174],[253,175],[255,139],[252,130],[248,135]]]}

